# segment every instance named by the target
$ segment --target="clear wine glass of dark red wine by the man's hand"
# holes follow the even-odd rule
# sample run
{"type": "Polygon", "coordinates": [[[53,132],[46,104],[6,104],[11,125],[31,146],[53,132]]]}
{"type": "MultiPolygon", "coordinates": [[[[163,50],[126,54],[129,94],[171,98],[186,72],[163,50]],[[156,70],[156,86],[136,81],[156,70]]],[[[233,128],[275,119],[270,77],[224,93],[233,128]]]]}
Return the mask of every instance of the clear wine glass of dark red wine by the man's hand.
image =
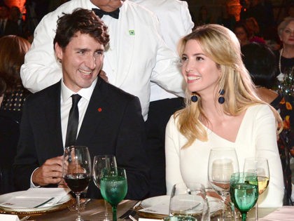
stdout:
{"type": "Polygon", "coordinates": [[[76,221],[83,221],[80,217],[80,193],[89,185],[92,176],[91,169],[91,159],[87,147],[71,146],[64,149],[62,177],[67,187],[76,194],[78,203],[76,221]]]}

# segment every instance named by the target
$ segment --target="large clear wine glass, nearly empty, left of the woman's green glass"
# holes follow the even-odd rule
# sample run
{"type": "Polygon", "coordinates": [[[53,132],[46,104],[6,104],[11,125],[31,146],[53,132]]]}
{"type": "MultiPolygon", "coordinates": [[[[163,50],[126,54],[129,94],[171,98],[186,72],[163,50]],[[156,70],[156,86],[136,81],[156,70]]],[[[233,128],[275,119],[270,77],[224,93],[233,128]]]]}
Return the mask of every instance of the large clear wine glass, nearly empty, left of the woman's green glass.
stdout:
{"type": "Polygon", "coordinates": [[[235,214],[227,205],[227,199],[230,195],[230,177],[232,173],[238,172],[239,162],[235,148],[216,147],[211,149],[209,154],[208,177],[211,186],[221,195],[225,203],[223,209],[224,219],[225,217],[233,217],[235,214]]]}

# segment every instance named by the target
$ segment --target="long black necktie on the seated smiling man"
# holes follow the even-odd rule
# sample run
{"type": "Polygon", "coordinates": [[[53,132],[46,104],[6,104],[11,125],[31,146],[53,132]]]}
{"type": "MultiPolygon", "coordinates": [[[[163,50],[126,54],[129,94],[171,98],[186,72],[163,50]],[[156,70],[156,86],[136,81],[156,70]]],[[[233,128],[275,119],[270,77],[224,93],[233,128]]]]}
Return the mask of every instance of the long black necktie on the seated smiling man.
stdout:
{"type": "Polygon", "coordinates": [[[78,133],[78,101],[82,98],[80,95],[71,95],[73,104],[69,111],[69,122],[67,123],[65,147],[74,145],[76,134],[78,133]]]}

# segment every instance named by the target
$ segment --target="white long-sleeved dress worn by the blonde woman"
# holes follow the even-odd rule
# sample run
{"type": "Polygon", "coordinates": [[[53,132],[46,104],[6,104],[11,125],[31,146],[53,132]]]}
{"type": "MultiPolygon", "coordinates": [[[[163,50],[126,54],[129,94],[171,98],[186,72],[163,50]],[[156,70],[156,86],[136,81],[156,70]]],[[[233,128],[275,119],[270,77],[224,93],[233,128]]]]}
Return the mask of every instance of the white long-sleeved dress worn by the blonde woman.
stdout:
{"type": "MultiPolygon", "coordinates": [[[[276,121],[267,105],[255,105],[246,110],[235,142],[216,135],[207,128],[208,141],[195,140],[185,149],[186,138],[179,132],[177,119],[171,116],[165,137],[167,194],[178,182],[200,182],[209,187],[208,162],[212,147],[234,147],[239,170],[246,157],[265,157],[269,161],[269,186],[258,199],[259,207],[280,207],[283,203],[283,172],[276,145],[276,121]]],[[[228,131],[230,133],[230,131],[228,131]]]]}

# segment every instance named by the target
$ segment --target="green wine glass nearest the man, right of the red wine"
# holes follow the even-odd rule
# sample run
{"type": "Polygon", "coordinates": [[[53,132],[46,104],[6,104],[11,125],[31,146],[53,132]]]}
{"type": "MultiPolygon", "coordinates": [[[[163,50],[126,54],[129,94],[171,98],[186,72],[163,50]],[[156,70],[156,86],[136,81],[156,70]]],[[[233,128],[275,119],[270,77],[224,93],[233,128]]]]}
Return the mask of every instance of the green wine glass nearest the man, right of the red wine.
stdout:
{"type": "Polygon", "coordinates": [[[104,168],[100,180],[103,198],[112,206],[113,221],[117,221],[116,207],[127,194],[127,175],[124,168],[104,168]]]}

